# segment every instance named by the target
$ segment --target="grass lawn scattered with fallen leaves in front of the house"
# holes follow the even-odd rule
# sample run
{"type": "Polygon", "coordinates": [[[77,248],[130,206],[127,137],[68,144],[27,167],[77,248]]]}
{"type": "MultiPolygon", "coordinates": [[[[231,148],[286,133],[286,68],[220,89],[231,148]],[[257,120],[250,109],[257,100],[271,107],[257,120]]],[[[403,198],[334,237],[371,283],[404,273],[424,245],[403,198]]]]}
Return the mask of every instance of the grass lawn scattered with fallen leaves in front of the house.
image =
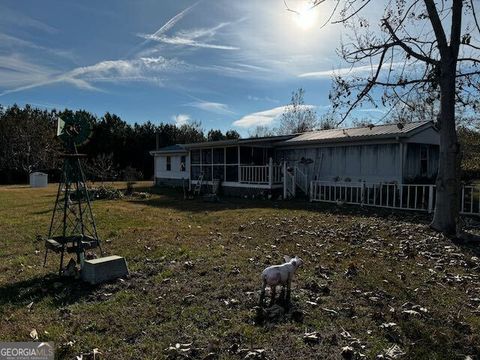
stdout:
{"type": "MultiPolygon", "coordinates": [[[[147,186],[139,184],[137,186],[147,186]]],[[[122,185],[119,185],[122,186],[122,185]]],[[[480,355],[480,262],[418,214],[302,201],[148,199],[93,203],[107,254],[131,276],[92,287],[42,267],[55,185],[0,187],[0,340],[54,341],[58,358],[375,358],[395,345],[405,359],[480,355]],[[297,315],[255,322],[260,273],[298,255],[297,315]],[[350,268],[350,271],[347,271],[350,268]],[[328,289],[330,292],[328,292],[328,289]],[[317,341],[304,334],[316,332],[317,341]],[[260,356],[259,356],[260,358],[260,356]]]]}

